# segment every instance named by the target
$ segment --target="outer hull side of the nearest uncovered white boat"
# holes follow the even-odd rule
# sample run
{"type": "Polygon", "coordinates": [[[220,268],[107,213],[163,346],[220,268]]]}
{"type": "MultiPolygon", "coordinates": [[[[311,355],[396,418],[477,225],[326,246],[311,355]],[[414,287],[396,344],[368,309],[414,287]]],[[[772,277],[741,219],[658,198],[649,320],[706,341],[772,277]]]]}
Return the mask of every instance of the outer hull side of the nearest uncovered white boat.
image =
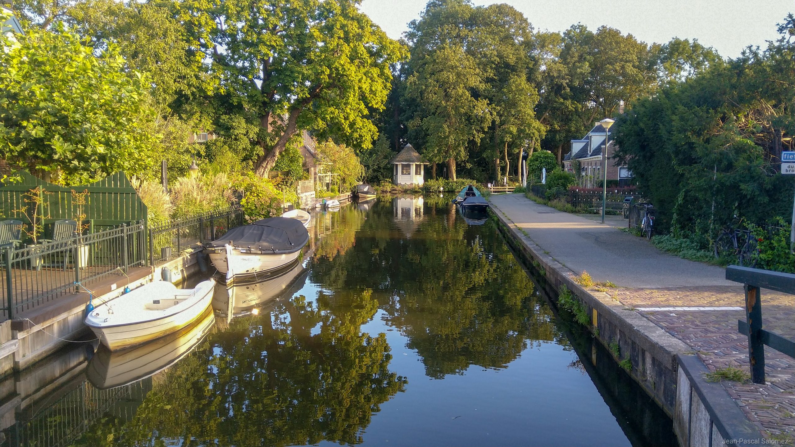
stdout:
{"type": "MultiPolygon", "coordinates": [[[[156,320],[106,327],[88,325],[88,327],[97,336],[99,342],[111,351],[130,348],[148,341],[157,340],[161,336],[166,336],[185,326],[192,325],[210,307],[212,291],[213,287],[208,288],[188,308],[156,320]]],[[[123,295],[121,298],[123,299],[123,295]]]]}

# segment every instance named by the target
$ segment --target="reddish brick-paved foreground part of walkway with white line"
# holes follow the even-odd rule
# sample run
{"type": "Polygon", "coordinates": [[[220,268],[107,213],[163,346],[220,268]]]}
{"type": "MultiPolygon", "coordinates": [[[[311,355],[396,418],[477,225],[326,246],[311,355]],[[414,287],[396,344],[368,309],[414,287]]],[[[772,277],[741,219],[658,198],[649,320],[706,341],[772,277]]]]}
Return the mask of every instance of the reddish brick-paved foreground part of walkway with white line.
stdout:
{"type": "MultiPolygon", "coordinates": [[[[748,339],[737,332],[737,321],[745,320],[742,286],[619,288],[608,293],[691,346],[710,371],[724,367],[750,371],[748,339]]],[[[762,322],[767,330],[795,338],[795,295],[762,290],[762,322]]],[[[795,359],[765,347],[765,372],[766,385],[722,384],[761,430],[774,437],[795,439],[795,359]]]]}

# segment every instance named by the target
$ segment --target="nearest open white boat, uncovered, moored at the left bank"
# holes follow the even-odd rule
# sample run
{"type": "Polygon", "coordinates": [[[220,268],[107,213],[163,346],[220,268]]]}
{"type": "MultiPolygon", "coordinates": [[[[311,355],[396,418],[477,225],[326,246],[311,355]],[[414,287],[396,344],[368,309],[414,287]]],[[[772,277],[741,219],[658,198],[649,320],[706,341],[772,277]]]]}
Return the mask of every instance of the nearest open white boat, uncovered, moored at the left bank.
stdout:
{"type": "Polygon", "coordinates": [[[111,351],[155,340],[190,325],[212,302],[214,279],[194,289],[177,289],[170,282],[149,282],[97,306],[86,325],[111,351]]]}

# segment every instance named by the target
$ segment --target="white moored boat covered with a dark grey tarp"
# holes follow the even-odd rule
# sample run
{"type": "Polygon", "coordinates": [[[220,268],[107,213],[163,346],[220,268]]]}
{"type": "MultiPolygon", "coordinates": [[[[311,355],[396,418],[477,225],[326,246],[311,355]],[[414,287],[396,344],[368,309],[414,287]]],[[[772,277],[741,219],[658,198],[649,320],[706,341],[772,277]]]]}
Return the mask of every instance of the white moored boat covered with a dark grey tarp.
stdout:
{"type": "Polygon", "coordinates": [[[226,274],[233,264],[235,278],[256,277],[293,262],[309,242],[301,221],[269,217],[232,228],[226,235],[204,244],[212,265],[226,274]]]}

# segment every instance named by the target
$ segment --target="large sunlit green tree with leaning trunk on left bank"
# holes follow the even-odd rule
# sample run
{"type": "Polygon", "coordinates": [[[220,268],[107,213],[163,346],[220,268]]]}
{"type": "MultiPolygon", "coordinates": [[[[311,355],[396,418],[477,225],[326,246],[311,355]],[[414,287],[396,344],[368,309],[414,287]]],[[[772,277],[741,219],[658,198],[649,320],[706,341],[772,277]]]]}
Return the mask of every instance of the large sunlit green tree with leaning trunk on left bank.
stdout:
{"type": "Polygon", "coordinates": [[[359,0],[180,3],[196,42],[212,60],[223,95],[217,107],[258,126],[254,169],[265,175],[301,129],[367,148],[377,136],[396,41],[359,11],[359,0]]]}

